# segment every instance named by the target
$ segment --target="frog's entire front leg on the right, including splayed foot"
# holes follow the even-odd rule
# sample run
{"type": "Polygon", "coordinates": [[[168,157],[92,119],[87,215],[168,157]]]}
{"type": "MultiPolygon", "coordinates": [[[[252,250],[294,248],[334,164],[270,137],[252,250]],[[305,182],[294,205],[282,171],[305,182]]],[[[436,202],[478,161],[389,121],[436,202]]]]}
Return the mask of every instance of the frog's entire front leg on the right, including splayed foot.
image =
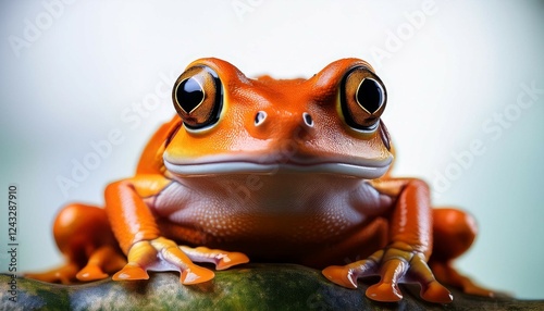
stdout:
{"type": "Polygon", "coordinates": [[[380,275],[378,284],[367,289],[367,297],[379,301],[403,298],[399,283],[419,283],[421,297],[448,303],[452,295],[434,277],[426,264],[432,251],[432,211],[428,186],[419,179],[372,182],[384,195],[395,198],[390,217],[390,242],[366,260],[345,266],[329,266],[323,274],[332,282],[355,288],[357,278],[380,275]]]}

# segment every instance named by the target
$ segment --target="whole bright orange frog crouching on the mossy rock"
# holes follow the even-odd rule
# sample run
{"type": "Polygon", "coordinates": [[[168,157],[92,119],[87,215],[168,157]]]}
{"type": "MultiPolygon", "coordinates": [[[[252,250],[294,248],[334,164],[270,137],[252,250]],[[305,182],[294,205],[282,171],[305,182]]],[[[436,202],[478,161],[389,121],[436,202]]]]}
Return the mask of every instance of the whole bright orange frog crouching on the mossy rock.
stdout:
{"type": "Polygon", "coordinates": [[[323,269],[349,288],[379,275],[367,290],[379,301],[419,283],[423,299],[450,302],[435,275],[492,295],[450,265],[475,237],[472,219],[433,210],[422,181],[390,176],[385,88],[364,61],[339,60],[309,79],[249,79],[201,59],[173,100],[178,115],[148,142],[136,175],[107,187],[106,208],[71,204],[58,215],[67,263],[30,277],[147,279],[173,270],[196,284],[214,273],[194,262],[223,270],[251,258],[323,269]]]}

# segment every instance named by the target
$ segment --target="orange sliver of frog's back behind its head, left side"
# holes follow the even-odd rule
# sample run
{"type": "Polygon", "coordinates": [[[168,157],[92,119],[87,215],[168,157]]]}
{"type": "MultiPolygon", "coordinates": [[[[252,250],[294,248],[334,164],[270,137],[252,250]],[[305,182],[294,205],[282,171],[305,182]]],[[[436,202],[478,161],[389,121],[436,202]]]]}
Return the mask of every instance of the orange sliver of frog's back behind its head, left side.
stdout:
{"type": "Polygon", "coordinates": [[[172,117],[170,122],[162,124],[147,142],[141,152],[136,167],[136,174],[163,174],[165,171],[162,153],[169,140],[182,126],[178,115],[172,117]]]}

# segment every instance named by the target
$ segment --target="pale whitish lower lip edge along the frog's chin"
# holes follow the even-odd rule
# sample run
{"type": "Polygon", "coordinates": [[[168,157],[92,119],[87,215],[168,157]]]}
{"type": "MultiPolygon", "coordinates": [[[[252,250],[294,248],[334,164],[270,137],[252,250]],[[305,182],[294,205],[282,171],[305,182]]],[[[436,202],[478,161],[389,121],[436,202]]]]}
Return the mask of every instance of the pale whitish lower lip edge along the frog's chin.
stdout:
{"type": "Polygon", "coordinates": [[[322,162],[322,163],[258,163],[251,161],[221,161],[221,162],[200,162],[200,163],[172,163],[164,159],[164,165],[171,173],[182,176],[210,176],[223,174],[334,174],[346,177],[358,177],[364,179],[374,179],[383,176],[392,159],[386,159],[372,164],[368,163],[343,163],[343,162],[322,162]]]}

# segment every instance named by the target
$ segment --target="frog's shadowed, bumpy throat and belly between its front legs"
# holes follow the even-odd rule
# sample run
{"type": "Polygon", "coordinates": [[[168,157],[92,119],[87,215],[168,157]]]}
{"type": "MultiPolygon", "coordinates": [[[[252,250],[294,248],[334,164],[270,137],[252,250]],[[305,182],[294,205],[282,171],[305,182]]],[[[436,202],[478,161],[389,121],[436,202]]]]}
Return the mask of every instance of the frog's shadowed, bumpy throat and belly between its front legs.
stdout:
{"type": "Polygon", "coordinates": [[[181,242],[237,250],[281,247],[293,252],[301,246],[334,244],[384,214],[392,203],[364,181],[325,174],[180,182],[150,201],[163,234],[181,242]]]}

